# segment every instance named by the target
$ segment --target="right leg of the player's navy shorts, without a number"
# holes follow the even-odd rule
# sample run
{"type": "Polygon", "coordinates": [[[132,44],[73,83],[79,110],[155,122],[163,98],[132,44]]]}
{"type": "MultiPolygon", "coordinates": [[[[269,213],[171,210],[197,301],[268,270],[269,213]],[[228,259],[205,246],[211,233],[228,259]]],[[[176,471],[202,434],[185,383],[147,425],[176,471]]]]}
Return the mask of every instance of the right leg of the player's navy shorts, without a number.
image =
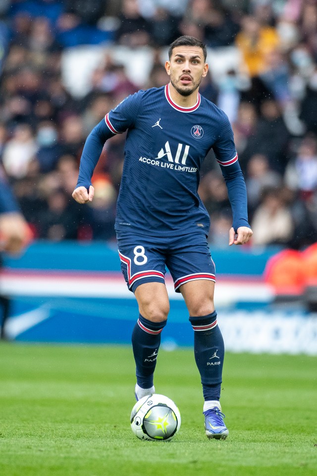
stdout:
{"type": "Polygon", "coordinates": [[[173,238],[166,266],[172,275],[174,289],[186,283],[208,280],[215,282],[215,266],[211,258],[207,237],[203,232],[173,238]]]}

